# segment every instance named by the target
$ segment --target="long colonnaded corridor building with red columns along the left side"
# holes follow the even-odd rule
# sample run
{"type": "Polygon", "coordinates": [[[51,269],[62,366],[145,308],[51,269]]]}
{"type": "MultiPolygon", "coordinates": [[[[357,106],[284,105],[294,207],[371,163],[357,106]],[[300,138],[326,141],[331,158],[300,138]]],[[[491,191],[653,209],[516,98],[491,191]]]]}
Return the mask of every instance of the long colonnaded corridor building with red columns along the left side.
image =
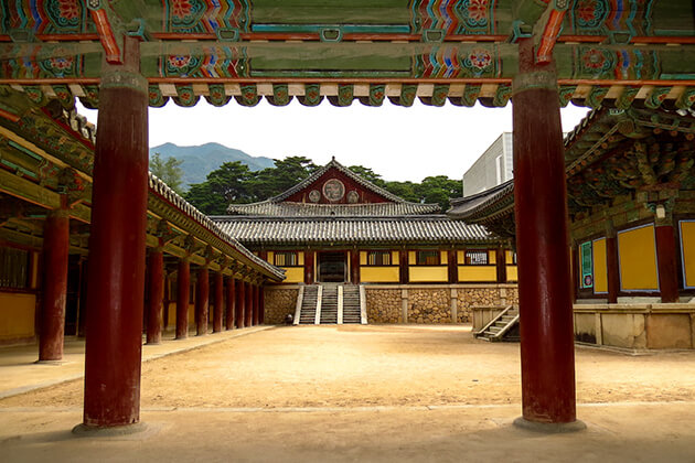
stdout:
{"type": "MultiPolygon", "coordinates": [[[[90,254],[96,128],[57,100],[33,110],[21,93],[0,90],[20,115],[0,117],[0,345],[39,341],[39,359],[57,362],[65,335],[85,335],[88,274],[98,265],[90,254]]],[[[154,175],[145,180],[147,342],[159,343],[165,330],[182,338],[189,327],[204,334],[260,323],[260,288],[281,281],[282,270],[154,175]]]]}

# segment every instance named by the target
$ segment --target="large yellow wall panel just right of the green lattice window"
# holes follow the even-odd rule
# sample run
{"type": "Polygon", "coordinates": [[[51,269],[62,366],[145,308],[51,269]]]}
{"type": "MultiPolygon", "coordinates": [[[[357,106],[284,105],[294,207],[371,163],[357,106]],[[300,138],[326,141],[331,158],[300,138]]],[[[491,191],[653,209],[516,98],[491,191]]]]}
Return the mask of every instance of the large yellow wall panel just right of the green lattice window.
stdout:
{"type": "Polygon", "coordinates": [[[654,226],[648,225],[618,233],[620,288],[623,291],[659,289],[654,226]]]}

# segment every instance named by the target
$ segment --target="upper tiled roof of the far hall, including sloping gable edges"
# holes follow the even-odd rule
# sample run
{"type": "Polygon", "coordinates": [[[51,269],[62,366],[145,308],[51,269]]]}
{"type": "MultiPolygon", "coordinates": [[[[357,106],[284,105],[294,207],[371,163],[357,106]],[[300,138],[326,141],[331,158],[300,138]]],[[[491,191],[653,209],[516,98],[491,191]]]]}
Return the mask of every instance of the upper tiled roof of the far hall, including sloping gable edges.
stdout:
{"type": "Polygon", "coordinates": [[[376,186],[374,183],[364,180],[350,169],[345,168],[335,158],[324,166],[318,169],[307,179],[302,180],[291,189],[266,201],[252,204],[229,204],[228,214],[237,215],[260,215],[272,217],[316,217],[316,216],[398,216],[418,215],[439,212],[438,204],[410,203],[395,194],[376,186]],[[319,180],[330,169],[335,169],[355,183],[371,190],[379,196],[391,201],[391,203],[370,204],[313,204],[286,202],[295,193],[306,189],[319,180]]]}

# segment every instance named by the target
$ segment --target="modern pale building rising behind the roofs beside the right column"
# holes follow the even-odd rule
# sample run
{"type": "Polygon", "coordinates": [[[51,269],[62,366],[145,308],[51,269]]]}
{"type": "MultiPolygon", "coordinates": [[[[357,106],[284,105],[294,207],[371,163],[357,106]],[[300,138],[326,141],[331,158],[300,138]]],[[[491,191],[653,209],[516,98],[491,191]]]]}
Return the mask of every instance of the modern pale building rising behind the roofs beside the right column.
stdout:
{"type": "Polygon", "coordinates": [[[513,176],[512,132],[503,132],[463,174],[463,196],[490,190],[513,176]]]}

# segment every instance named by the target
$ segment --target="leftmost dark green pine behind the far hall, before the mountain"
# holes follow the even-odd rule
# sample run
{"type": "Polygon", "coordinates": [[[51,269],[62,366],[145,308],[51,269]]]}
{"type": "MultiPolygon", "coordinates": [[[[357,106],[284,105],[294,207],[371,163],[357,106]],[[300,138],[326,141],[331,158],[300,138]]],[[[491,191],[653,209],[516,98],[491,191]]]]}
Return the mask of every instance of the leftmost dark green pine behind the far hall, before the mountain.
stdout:
{"type": "Polygon", "coordinates": [[[225,162],[207,174],[203,183],[191,185],[185,200],[209,215],[222,215],[231,203],[252,203],[257,197],[249,189],[254,173],[239,161],[225,162]]]}

